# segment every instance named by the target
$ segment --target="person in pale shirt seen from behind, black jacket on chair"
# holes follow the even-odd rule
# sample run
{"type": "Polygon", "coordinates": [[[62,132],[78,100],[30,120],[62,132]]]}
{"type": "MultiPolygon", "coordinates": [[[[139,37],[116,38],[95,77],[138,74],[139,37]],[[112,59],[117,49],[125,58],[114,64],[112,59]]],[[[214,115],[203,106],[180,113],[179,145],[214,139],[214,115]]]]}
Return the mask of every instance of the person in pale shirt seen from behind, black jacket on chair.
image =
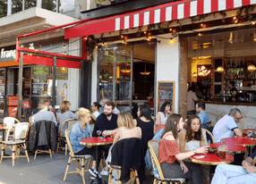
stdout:
{"type": "Polygon", "coordinates": [[[57,121],[55,118],[55,114],[53,112],[48,111],[48,105],[46,102],[40,103],[38,105],[39,112],[35,113],[31,118],[31,123],[34,123],[36,121],[53,121],[55,125],[57,125],[57,121]]]}

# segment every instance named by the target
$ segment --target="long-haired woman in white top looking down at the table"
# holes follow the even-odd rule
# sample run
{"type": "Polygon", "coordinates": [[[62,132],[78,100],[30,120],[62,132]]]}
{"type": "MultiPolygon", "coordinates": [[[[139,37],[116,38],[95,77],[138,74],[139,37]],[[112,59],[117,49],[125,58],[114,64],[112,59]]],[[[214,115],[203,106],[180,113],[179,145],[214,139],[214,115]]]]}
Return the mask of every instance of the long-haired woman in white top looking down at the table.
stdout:
{"type": "MultiPolygon", "coordinates": [[[[179,136],[180,150],[182,153],[190,152],[204,146],[204,138],[201,133],[201,122],[198,116],[192,115],[179,136]]],[[[186,162],[190,162],[186,160],[186,162]]],[[[202,183],[209,184],[209,165],[201,164],[202,183]]]]}

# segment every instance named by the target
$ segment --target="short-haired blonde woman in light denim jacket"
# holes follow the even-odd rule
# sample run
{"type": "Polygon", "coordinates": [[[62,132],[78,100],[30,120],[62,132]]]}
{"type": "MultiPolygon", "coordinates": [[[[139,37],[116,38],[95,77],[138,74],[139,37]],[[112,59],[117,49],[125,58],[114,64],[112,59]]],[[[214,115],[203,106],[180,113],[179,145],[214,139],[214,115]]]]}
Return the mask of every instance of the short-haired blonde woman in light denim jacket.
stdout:
{"type": "Polygon", "coordinates": [[[91,146],[80,144],[82,138],[90,138],[90,111],[79,108],[79,122],[75,123],[70,132],[70,142],[73,146],[74,155],[93,155],[94,149],[91,146]]]}

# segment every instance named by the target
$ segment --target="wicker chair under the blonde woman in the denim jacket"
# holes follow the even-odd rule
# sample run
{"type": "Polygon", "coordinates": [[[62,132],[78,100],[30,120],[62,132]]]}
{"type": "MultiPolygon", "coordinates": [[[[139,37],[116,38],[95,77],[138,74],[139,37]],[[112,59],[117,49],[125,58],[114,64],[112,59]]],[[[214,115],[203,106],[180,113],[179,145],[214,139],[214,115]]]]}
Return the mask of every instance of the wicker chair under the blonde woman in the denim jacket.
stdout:
{"type": "Polygon", "coordinates": [[[89,170],[92,156],[91,155],[74,155],[73,147],[72,147],[72,144],[70,142],[70,132],[71,132],[71,129],[65,130],[65,139],[66,139],[67,145],[69,147],[70,155],[69,155],[68,163],[67,163],[67,166],[66,166],[66,171],[64,173],[64,180],[66,180],[67,174],[76,173],[76,174],[81,175],[82,182],[83,182],[83,184],[85,184],[84,172],[89,170]],[[76,159],[77,159],[76,170],[75,171],[69,171],[70,163],[72,163],[73,160],[76,160],[76,159]],[[84,167],[85,167],[85,164],[88,161],[89,161],[89,163],[88,163],[87,169],[85,170],[84,167]],[[81,163],[81,170],[79,169],[80,163],[81,163]]]}

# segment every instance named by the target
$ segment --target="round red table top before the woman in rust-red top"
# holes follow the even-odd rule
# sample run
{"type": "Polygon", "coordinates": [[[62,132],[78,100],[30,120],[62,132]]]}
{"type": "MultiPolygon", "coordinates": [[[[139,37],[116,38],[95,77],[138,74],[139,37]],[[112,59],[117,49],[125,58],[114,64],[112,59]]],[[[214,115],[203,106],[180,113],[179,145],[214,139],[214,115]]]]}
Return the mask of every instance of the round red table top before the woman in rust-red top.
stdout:
{"type": "Polygon", "coordinates": [[[197,156],[200,156],[200,155],[203,155],[203,154],[192,155],[190,157],[190,160],[193,163],[201,163],[201,164],[207,164],[207,165],[218,165],[221,163],[233,163],[233,161],[234,161],[234,156],[229,155],[229,154],[227,154],[227,158],[225,160],[220,160],[220,158],[216,154],[206,154],[202,158],[197,158],[197,156]]]}

